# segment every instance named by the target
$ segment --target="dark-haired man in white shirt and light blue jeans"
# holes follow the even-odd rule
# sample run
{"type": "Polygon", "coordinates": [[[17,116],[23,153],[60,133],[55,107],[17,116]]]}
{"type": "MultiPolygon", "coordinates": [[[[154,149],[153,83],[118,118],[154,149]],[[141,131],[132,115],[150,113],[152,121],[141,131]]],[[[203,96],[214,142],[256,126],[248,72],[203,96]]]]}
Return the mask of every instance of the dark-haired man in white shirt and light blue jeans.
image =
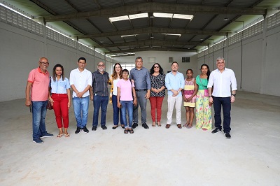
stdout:
{"type": "Polygon", "coordinates": [[[86,126],[90,103],[89,90],[92,85],[92,73],[85,69],[87,65],[85,57],[80,57],[77,64],[78,68],[73,69],[70,73],[70,85],[73,90],[73,109],[77,122],[75,134],[79,134],[81,129],[85,133],[89,132],[86,126]]]}

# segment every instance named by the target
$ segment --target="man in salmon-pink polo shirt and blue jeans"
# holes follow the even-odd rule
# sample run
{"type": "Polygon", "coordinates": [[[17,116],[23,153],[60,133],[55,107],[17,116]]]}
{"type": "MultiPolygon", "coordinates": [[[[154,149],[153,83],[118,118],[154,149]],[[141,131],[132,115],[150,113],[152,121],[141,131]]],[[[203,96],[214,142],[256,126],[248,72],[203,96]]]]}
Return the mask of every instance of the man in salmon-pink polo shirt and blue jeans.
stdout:
{"type": "Polygon", "coordinates": [[[51,137],[45,130],[45,115],[47,113],[48,87],[50,74],[48,73],[48,59],[41,57],[39,67],[30,71],[25,90],[25,106],[32,107],[33,142],[43,143],[41,138],[51,137]]]}

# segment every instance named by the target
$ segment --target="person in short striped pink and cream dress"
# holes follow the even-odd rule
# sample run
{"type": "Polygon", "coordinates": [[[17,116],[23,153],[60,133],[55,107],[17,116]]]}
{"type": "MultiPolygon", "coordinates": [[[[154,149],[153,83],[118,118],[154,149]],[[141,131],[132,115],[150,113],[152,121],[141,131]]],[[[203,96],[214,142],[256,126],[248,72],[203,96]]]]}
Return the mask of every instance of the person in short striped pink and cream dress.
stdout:
{"type": "Polygon", "coordinates": [[[186,108],[186,124],[183,127],[187,127],[188,129],[193,127],[193,117],[195,117],[195,101],[197,94],[197,83],[195,82],[195,78],[193,78],[193,70],[188,69],[186,72],[187,78],[185,79],[185,87],[183,90],[183,101],[184,106],[186,108]]]}

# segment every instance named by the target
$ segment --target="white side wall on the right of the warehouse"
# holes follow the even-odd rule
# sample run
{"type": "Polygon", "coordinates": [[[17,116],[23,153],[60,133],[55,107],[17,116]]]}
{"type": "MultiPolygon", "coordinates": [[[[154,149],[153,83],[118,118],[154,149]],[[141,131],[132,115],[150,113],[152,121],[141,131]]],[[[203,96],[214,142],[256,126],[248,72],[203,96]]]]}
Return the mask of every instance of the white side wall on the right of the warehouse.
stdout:
{"type": "MultiPolygon", "coordinates": [[[[269,31],[262,31],[258,35],[244,39],[242,48],[239,42],[228,46],[228,50],[224,50],[225,53],[223,49],[215,51],[214,69],[216,69],[217,57],[225,56],[225,66],[235,71],[239,91],[280,96],[279,43],[280,24],[269,31]]],[[[208,58],[208,55],[205,55],[198,59],[197,69],[205,63],[209,64],[213,71],[213,53],[209,56],[208,58]]]]}

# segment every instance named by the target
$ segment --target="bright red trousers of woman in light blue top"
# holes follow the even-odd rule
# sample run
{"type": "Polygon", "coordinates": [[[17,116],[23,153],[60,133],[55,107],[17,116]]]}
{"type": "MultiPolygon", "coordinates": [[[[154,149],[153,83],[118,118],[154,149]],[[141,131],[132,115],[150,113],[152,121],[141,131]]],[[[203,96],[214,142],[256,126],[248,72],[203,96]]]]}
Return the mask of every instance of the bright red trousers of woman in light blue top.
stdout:
{"type": "Polygon", "coordinates": [[[57,127],[62,128],[62,119],[64,128],[69,127],[69,109],[68,109],[68,96],[67,94],[53,94],[52,93],[53,110],[55,111],[55,120],[57,127]]]}

